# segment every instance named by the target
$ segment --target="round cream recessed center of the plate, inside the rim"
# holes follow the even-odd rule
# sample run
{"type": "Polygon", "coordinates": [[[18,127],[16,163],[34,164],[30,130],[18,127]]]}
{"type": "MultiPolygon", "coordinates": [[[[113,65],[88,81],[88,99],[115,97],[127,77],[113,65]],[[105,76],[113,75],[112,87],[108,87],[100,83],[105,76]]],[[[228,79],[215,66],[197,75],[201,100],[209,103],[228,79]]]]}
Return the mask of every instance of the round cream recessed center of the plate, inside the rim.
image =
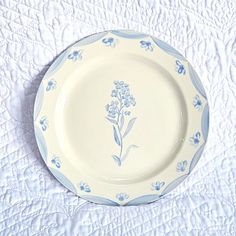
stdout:
{"type": "Polygon", "coordinates": [[[65,159],[116,184],[164,170],[187,125],[175,79],[151,59],[131,54],[78,68],[62,87],[55,120],[65,159]]]}

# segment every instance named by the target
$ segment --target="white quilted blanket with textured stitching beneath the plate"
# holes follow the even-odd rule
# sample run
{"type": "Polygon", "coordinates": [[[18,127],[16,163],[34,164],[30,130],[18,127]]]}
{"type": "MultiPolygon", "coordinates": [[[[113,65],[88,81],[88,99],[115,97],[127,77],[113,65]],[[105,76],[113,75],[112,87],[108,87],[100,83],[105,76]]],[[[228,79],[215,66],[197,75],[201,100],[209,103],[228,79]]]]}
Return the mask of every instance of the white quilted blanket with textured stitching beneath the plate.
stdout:
{"type": "Polygon", "coordinates": [[[1,0],[0,235],[236,235],[236,1],[1,0]],[[53,59],[108,29],[154,35],[192,63],[209,99],[207,146],[172,193],[138,207],[92,204],[43,163],[33,104],[53,59]]]}

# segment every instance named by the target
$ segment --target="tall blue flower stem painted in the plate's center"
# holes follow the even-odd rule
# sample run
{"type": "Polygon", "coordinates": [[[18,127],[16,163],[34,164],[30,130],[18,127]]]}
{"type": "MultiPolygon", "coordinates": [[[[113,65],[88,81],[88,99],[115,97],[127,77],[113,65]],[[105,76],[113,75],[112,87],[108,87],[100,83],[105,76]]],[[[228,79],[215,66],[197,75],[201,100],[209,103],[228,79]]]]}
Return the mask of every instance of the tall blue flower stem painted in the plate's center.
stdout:
{"type": "Polygon", "coordinates": [[[124,149],[124,138],[131,131],[136,117],[131,118],[127,124],[126,129],[123,131],[125,124],[125,118],[128,117],[131,112],[128,108],[136,105],[135,98],[130,94],[129,85],[124,83],[124,81],[114,81],[115,89],[111,92],[111,97],[113,100],[110,104],[106,105],[107,116],[106,119],[113,126],[114,140],[119,146],[119,154],[112,155],[114,161],[121,166],[121,163],[126,159],[129,152],[133,148],[137,148],[136,145],[129,145],[123,153],[124,149]]]}

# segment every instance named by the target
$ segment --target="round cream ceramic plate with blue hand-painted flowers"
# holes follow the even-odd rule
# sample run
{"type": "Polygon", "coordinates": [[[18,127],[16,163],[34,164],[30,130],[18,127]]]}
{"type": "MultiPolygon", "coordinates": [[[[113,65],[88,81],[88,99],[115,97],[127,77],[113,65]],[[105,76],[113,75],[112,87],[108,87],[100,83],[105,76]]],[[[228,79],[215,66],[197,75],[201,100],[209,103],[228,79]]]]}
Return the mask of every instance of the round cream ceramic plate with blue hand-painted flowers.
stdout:
{"type": "Polygon", "coordinates": [[[189,62],[131,31],[94,34],[64,51],[34,108],[37,143],[52,174],[108,205],[153,202],[182,182],[203,151],[208,120],[189,62]]]}

